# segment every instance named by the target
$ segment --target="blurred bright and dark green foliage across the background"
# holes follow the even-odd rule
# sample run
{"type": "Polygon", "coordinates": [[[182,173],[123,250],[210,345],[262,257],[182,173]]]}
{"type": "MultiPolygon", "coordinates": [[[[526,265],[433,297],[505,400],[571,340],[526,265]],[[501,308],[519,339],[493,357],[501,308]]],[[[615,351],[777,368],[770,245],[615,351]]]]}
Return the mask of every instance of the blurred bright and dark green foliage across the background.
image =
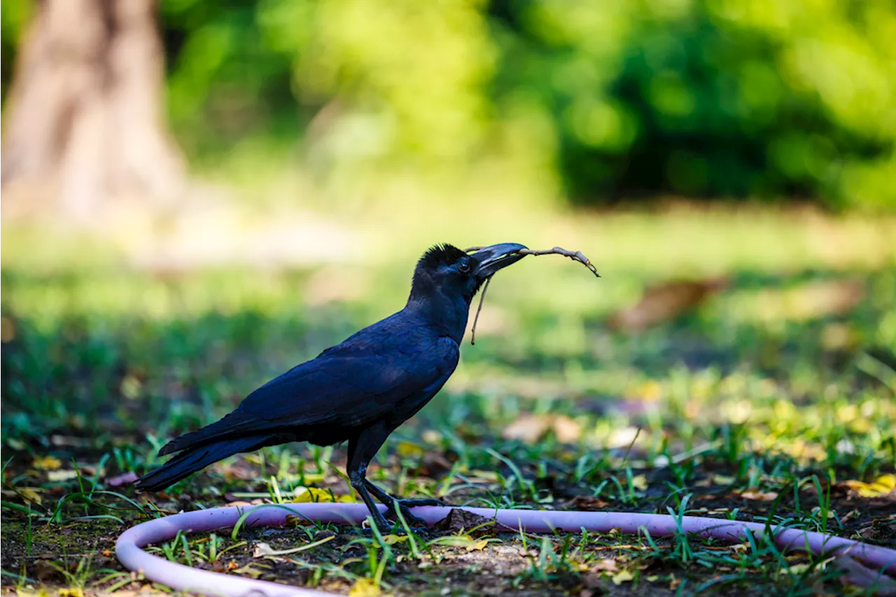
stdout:
{"type": "MultiPolygon", "coordinates": [[[[0,7],[0,92],[29,4],[0,7]]],[[[160,15],[194,156],[252,140],[300,147],[325,177],[499,160],[579,203],[896,206],[893,0],[161,0],[160,15]]]]}

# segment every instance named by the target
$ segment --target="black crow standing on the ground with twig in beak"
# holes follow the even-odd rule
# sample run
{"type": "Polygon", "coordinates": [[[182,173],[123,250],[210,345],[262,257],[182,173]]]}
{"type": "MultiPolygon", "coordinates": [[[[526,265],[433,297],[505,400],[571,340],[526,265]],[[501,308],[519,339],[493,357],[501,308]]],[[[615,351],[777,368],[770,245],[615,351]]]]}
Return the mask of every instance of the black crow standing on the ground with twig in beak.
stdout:
{"type": "Polygon", "coordinates": [[[380,528],[386,519],[374,497],[413,523],[408,508],[435,499],[398,499],[366,479],[367,465],[387,437],[437,393],[457,367],[470,302],[483,282],[519,261],[517,243],[468,254],[452,245],[426,251],[414,270],[410,296],[398,313],[323,350],[255,390],[223,419],[159,450],[176,454],[135,481],[137,489],[165,489],[211,463],[263,446],[306,441],[349,442],[346,472],[380,528]]]}

